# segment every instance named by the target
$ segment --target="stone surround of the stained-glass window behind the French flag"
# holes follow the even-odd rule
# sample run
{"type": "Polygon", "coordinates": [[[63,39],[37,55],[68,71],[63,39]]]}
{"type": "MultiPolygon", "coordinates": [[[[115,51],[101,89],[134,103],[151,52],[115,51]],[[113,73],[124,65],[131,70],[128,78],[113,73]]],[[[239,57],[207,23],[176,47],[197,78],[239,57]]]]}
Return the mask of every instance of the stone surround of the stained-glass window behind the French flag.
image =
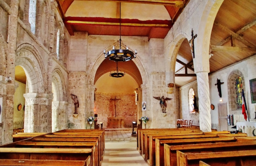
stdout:
{"type": "MultiPolygon", "coordinates": [[[[237,77],[242,78],[243,89],[245,89],[245,81],[244,81],[243,73],[240,70],[231,71],[228,76],[228,79],[227,79],[229,111],[241,111],[242,110],[242,109],[237,108],[237,102],[236,102],[235,80],[237,77]]],[[[244,95],[245,95],[245,93],[246,92],[244,91],[244,95]]],[[[239,112],[237,112],[237,113],[239,114],[239,112]]],[[[234,113],[234,114],[236,114],[236,113],[234,113]]]]}

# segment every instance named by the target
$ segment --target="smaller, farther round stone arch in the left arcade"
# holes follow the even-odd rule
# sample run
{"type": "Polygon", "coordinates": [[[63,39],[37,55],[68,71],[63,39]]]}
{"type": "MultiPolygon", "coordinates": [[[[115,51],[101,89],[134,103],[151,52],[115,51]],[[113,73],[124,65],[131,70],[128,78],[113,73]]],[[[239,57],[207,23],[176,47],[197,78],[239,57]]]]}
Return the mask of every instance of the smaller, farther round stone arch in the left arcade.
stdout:
{"type": "Polygon", "coordinates": [[[58,90],[58,95],[55,96],[54,94],[54,98],[53,101],[66,101],[66,86],[65,86],[65,81],[63,78],[63,75],[60,71],[60,69],[55,68],[52,72],[52,82],[53,82],[53,88],[55,88],[56,90],[58,90]],[[56,98],[58,97],[58,98],[56,98]]]}

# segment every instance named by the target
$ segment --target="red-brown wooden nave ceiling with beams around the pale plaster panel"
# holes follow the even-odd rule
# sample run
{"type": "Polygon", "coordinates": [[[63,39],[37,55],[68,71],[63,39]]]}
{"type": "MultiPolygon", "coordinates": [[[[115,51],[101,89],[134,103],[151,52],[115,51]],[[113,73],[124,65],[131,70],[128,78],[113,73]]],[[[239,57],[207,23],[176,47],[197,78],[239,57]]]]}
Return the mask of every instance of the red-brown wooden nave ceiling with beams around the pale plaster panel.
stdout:
{"type": "MultiPolygon", "coordinates": [[[[80,0],[91,1],[91,0],[80,0]]],[[[140,20],[121,18],[122,36],[147,36],[151,38],[164,39],[173,23],[176,21],[189,0],[94,0],[104,2],[123,2],[136,4],[164,5],[170,16],[169,20],[140,20]]],[[[89,35],[120,35],[120,19],[106,17],[85,17],[85,16],[66,16],[69,7],[74,0],[57,0],[58,10],[62,16],[65,26],[70,35],[74,32],[88,32],[89,35]]],[[[76,9],[80,10],[80,9],[76,9]]],[[[94,9],[92,9],[94,10],[94,9]]],[[[119,9],[106,8],[108,10],[118,11],[119,9]]],[[[150,11],[150,9],[141,9],[150,11]]],[[[163,12],[166,12],[163,11],[163,12]]],[[[77,12],[77,11],[76,11],[77,12]]],[[[99,11],[100,13],[100,11],[99,11]]]]}

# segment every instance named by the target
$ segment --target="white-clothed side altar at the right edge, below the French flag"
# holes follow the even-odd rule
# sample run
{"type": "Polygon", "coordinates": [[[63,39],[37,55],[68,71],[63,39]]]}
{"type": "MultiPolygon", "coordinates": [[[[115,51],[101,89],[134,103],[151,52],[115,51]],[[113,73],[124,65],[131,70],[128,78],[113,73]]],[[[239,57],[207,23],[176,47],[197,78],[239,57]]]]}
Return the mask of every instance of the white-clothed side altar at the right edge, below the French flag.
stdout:
{"type": "Polygon", "coordinates": [[[237,122],[236,130],[242,129],[243,133],[247,133],[248,137],[256,136],[256,122],[237,122]]]}

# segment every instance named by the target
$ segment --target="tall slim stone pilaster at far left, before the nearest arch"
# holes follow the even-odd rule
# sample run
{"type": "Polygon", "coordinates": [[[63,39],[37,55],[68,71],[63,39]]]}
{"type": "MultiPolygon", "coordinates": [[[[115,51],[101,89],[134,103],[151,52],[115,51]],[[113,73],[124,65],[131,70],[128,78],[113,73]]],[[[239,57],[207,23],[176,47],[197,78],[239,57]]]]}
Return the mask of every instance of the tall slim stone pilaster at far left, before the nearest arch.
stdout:
{"type": "Polygon", "coordinates": [[[9,15],[8,22],[8,44],[7,44],[7,58],[6,58],[6,71],[7,77],[11,77],[12,80],[6,83],[6,114],[2,130],[4,131],[4,140],[2,144],[12,142],[13,134],[13,102],[14,102],[14,86],[15,86],[15,60],[16,60],[16,42],[17,42],[17,28],[18,28],[18,8],[19,0],[11,1],[12,13],[9,15]]]}

